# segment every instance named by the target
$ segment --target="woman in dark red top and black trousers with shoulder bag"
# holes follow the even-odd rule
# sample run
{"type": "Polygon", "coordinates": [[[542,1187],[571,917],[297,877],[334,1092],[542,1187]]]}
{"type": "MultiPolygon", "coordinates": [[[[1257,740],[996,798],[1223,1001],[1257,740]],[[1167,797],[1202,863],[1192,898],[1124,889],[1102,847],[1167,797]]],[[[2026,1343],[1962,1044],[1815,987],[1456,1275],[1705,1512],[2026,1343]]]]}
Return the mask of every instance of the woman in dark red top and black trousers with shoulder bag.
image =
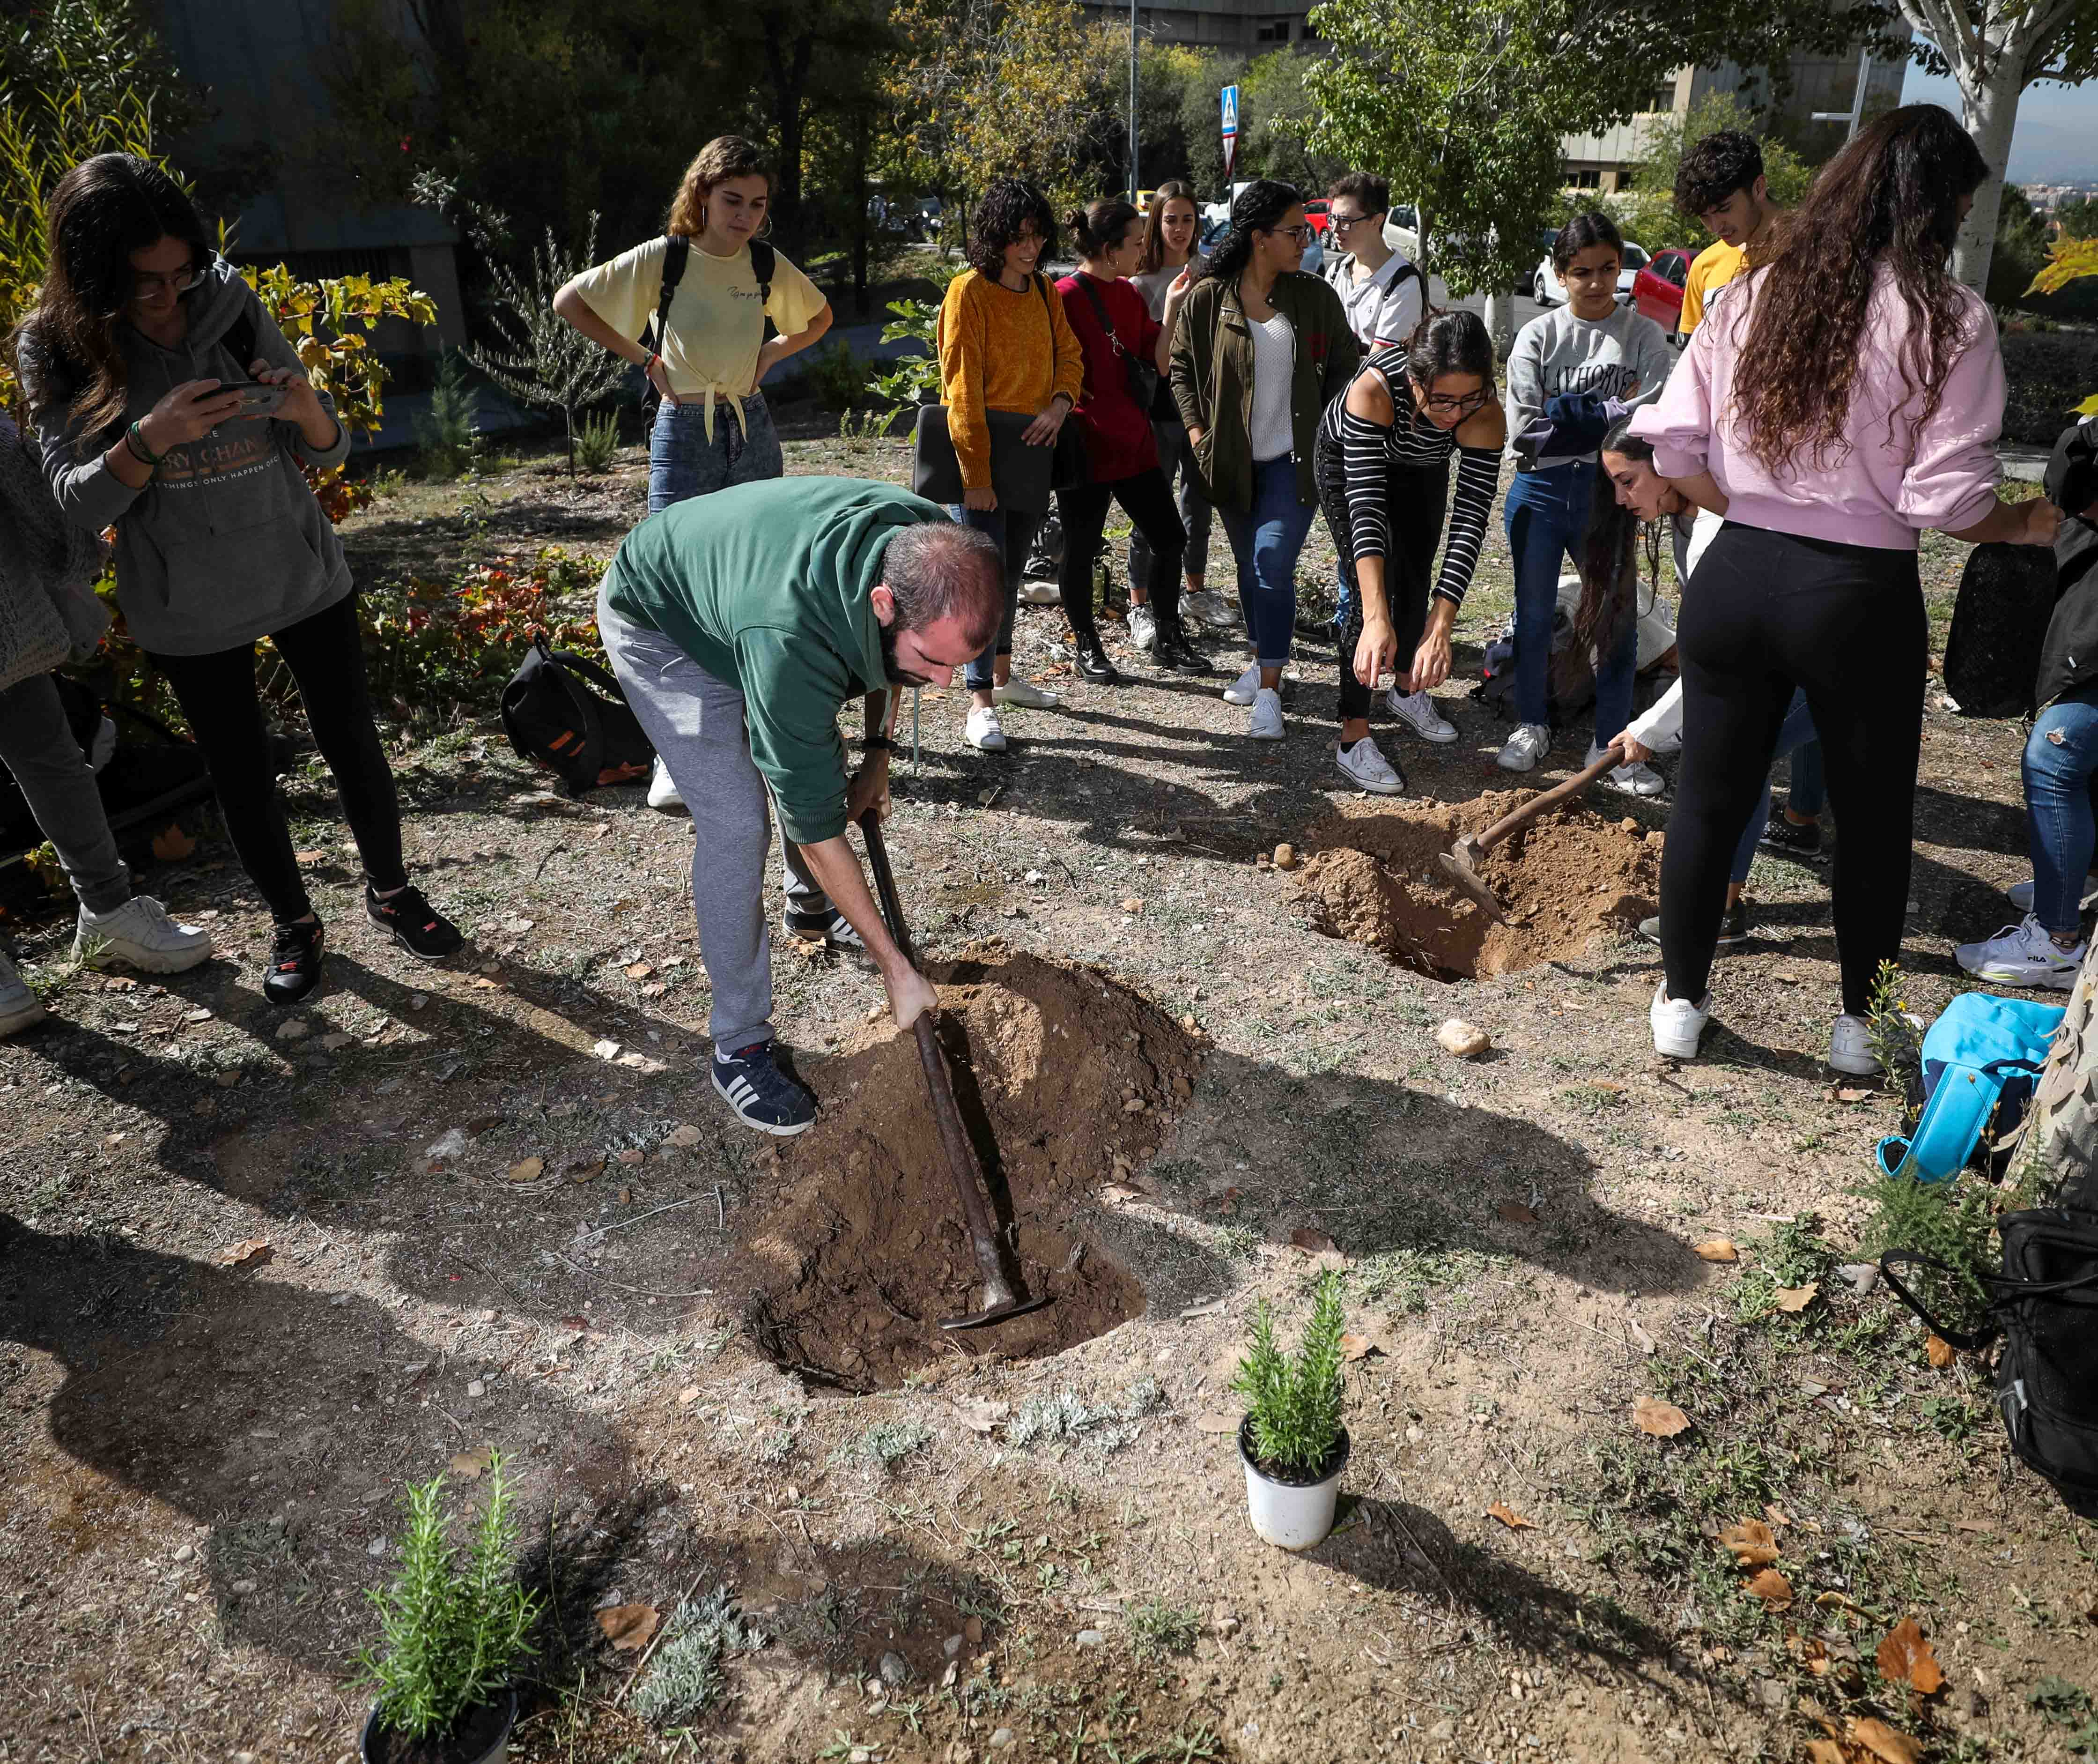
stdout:
{"type": "Polygon", "coordinates": [[[1150,411],[1150,386],[1156,382],[1146,375],[1141,392],[1135,386],[1141,365],[1156,367],[1160,375],[1169,371],[1173,325],[1194,283],[1183,271],[1166,289],[1164,319],[1154,319],[1143,294],[1129,283],[1143,256],[1137,210],[1127,201],[1101,199],[1072,210],[1064,224],[1078,248],[1078,268],[1057,283],[1057,292],[1085,352],[1085,396],[1076,417],[1091,466],[1089,485],[1055,493],[1064,520],[1057,589],[1064,596],[1064,617],[1078,640],[1078,673],[1106,686],[1120,682],[1093,625],[1093,560],[1099,556],[1110,501],[1122,505],[1150,547],[1150,579],[1143,587],[1158,619],[1152,654],[1181,673],[1208,673],[1208,657],[1187,642],[1179,617],[1179,566],[1187,529],[1173,508],[1166,474],[1158,470],[1150,411]]]}

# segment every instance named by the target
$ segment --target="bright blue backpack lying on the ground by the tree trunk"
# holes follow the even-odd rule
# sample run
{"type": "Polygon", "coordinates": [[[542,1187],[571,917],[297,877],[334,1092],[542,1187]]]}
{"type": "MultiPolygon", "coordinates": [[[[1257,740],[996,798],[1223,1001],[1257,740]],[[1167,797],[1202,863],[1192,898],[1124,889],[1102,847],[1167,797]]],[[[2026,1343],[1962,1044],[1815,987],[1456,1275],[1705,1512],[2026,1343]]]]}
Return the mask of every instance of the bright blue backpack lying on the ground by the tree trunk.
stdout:
{"type": "Polygon", "coordinates": [[[1924,1034],[1924,1112],[1903,1139],[1876,1147],[1880,1170],[1920,1183],[1951,1181],[1974,1156],[1983,1133],[2004,1141],[2033,1099],[2060,1005],[1962,992],[1924,1034]]]}

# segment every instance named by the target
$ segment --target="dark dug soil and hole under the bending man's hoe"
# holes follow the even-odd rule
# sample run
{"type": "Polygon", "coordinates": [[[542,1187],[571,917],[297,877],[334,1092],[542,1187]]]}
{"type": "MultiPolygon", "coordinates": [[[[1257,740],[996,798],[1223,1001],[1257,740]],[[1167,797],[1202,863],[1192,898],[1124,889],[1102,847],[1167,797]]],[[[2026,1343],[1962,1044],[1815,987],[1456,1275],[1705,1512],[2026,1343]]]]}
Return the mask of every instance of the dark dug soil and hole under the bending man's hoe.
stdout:
{"type": "Polygon", "coordinates": [[[917,1042],[887,1019],[831,1061],[822,1114],[780,1147],[785,1193],[749,1244],[757,1340],[812,1384],[871,1389],[952,1349],[1036,1357],[1143,1311],[1135,1277],[1070,1225],[1074,1206],[1139,1168],[1194,1093],[1200,1042],[1085,967],[984,948],[927,969],[955,1095],[992,1210],[1043,1311],[976,1332],[940,1317],[982,1286],[925,1099],[917,1042]]]}

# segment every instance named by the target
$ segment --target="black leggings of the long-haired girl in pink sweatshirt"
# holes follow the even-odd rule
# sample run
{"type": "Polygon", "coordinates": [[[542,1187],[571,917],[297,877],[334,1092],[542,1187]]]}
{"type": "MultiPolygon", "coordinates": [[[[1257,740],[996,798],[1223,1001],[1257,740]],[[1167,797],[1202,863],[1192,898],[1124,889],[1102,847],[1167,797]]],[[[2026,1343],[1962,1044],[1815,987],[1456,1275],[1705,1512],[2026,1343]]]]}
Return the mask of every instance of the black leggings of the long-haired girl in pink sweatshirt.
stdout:
{"type": "Polygon", "coordinates": [[[1842,1007],[1863,1015],[1880,963],[1901,956],[1909,902],[1928,654],[1915,552],[1727,522],[1683,596],[1676,646],[1683,768],[1662,849],[1668,996],[1706,994],[1733,847],[1800,688],[1842,824],[1834,879],[1842,1007]]]}

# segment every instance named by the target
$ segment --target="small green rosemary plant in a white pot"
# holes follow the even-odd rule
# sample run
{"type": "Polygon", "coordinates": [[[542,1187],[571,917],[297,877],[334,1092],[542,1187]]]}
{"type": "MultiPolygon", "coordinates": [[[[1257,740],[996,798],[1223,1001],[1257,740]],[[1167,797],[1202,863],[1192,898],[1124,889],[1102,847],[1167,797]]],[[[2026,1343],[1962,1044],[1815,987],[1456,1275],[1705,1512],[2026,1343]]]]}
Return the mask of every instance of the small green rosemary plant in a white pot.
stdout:
{"type": "Polygon", "coordinates": [[[1253,1347],[1232,1389],[1246,1403],[1238,1456],[1246,1464],[1253,1529],[1284,1550],[1309,1550],[1332,1531],[1347,1428],[1341,1426],[1341,1275],[1320,1275],[1311,1324],[1294,1357],[1276,1347],[1263,1298],[1253,1313],[1253,1347]]]}

